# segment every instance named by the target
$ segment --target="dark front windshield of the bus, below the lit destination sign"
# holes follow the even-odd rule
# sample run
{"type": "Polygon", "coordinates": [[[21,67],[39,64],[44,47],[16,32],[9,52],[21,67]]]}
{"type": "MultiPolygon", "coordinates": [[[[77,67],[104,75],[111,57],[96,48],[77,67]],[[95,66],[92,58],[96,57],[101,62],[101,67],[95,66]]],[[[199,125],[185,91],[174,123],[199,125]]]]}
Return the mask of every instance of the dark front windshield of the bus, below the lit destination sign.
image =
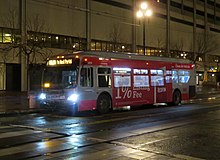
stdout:
{"type": "Polygon", "coordinates": [[[78,69],[73,67],[47,67],[43,72],[44,88],[75,88],[78,69]]]}

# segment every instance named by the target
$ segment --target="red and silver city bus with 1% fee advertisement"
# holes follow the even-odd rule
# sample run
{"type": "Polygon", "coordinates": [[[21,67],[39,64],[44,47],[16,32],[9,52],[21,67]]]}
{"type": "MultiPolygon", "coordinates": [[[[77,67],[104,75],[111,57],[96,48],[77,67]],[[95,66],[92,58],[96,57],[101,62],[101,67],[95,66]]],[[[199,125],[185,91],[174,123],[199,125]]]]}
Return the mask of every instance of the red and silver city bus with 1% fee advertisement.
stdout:
{"type": "Polygon", "coordinates": [[[70,113],[107,113],[124,106],[178,105],[195,93],[189,60],[87,51],[48,59],[38,98],[41,106],[62,106],[70,113]]]}

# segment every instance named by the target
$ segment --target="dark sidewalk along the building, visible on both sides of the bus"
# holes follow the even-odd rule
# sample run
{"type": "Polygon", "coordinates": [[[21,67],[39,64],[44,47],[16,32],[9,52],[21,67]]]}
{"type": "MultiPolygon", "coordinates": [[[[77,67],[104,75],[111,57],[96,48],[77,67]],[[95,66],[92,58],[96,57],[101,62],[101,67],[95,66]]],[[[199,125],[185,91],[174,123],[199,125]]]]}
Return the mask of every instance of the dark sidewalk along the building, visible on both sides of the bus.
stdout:
{"type": "MultiPolygon", "coordinates": [[[[210,95],[220,94],[220,87],[197,86],[197,94],[194,100],[208,98],[210,95]]],[[[34,108],[34,102],[29,101],[27,93],[0,91],[0,116],[36,113],[40,108],[34,108]]]]}

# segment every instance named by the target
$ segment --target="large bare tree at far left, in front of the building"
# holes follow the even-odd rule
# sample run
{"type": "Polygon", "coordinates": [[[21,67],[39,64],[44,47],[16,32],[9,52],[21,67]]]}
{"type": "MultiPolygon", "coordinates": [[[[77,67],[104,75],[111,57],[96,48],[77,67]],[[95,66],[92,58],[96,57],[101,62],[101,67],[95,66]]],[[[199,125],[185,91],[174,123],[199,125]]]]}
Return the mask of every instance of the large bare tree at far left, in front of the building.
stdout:
{"type": "MultiPolygon", "coordinates": [[[[6,26],[10,26],[15,29],[16,27],[16,12],[9,10],[8,16],[2,21],[8,23],[6,26]]],[[[28,91],[30,88],[29,79],[30,79],[30,64],[36,62],[36,57],[42,56],[45,59],[45,55],[49,55],[49,49],[45,47],[46,38],[43,37],[43,32],[49,33],[49,26],[46,24],[46,21],[40,17],[39,14],[34,14],[27,18],[27,30],[28,30],[28,40],[24,43],[20,41],[20,35],[12,32],[10,35],[10,42],[0,46],[1,56],[6,63],[6,60],[9,56],[9,53],[17,51],[17,56],[20,53],[24,54],[27,59],[27,77],[28,77],[28,91]]]]}

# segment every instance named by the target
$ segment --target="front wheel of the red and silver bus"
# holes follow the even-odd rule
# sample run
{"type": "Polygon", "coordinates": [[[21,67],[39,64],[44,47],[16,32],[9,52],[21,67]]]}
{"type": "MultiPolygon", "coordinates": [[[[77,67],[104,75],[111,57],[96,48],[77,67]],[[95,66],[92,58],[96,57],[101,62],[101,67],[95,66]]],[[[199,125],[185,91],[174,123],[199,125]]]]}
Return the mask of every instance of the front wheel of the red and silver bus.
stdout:
{"type": "Polygon", "coordinates": [[[107,94],[101,94],[97,100],[97,110],[101,114],[108,113],[111,108],[111,98],[107,94]]]}

